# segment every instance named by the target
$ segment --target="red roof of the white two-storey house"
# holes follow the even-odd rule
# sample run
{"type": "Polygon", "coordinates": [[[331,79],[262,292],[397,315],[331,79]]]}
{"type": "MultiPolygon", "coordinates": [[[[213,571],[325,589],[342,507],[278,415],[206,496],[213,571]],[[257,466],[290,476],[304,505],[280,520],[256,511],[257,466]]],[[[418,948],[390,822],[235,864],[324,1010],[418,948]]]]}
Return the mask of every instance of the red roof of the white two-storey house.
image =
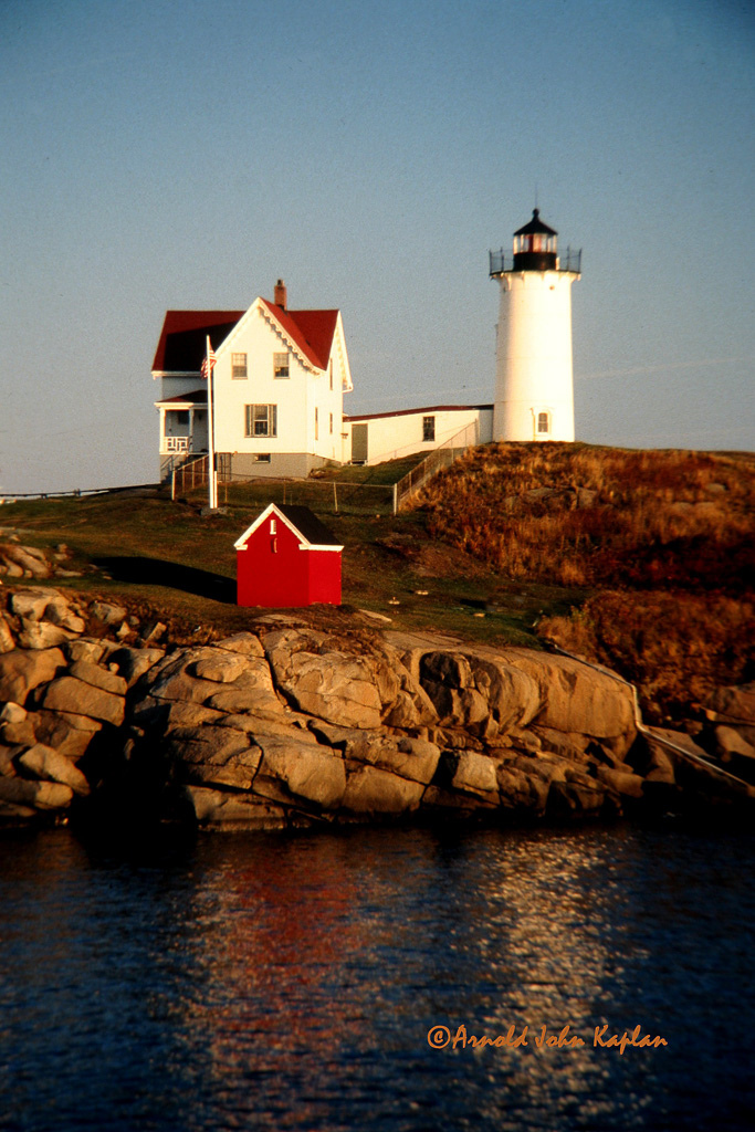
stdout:
{"type": "MultiPolygon", "coordinates": [[[[317,369],[327,369],[338,311],[284,310],[267,299],[260,302],[307,361],[317,369]]],[[[198,374],[207,335],[217,350],[244,314],[244,310],[169,310],[152,363],[153,372],[198,374]]]]}

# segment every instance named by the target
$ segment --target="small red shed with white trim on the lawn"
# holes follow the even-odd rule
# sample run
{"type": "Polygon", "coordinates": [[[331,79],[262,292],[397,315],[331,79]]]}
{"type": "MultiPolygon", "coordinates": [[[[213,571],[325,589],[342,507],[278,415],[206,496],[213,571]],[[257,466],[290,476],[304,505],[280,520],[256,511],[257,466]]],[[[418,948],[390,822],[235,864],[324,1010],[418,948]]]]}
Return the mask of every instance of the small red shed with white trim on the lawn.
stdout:
{"type": "Polygon", "coordinates": [[[309,507],[272,503],[234,543],[240,606],[341,604],[341,551],[309,507]]]}

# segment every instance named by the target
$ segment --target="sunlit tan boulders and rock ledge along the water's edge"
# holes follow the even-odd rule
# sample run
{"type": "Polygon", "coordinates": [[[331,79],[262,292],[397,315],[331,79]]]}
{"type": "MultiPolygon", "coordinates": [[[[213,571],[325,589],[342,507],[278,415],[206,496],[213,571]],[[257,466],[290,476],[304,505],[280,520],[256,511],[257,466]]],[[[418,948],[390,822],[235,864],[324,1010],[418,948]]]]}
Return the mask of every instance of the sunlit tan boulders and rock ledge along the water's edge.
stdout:
{"type": "Polygon", "coordinates": [[[754,685],[719,689],[693,739],[638,729],[629,685],[565,655],[280,615],[187,648],[112,602],[2,592],[0,826],[507,824],[755,797],[717,770],[752,781],[754,685]]]}

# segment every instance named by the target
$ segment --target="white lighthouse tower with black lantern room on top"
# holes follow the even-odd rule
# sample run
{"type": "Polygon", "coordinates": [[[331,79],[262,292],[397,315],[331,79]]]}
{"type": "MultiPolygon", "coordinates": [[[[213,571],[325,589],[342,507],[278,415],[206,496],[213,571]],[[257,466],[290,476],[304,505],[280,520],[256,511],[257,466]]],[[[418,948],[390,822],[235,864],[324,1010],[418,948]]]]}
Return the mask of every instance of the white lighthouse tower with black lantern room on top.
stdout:
{"type": "Polygon", "coordinates": [[[514,254],[490,252],[500,283],[494,440],[574,440],[572,284],[582,251],[558,256],[558,233],[532,220],[514,254]]]}

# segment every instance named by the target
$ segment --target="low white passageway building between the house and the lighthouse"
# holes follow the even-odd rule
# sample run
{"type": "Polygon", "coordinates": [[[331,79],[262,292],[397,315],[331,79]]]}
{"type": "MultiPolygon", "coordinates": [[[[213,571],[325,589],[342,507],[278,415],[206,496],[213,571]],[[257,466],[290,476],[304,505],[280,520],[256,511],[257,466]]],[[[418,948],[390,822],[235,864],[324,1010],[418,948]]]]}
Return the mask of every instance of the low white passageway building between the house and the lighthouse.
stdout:
{"type": "Polygon", "coordinates": [[[344,417],[352,464],[380,464],[415,452],[467,447],[492,439],[492,405],[429,405],[344,417]]]}

